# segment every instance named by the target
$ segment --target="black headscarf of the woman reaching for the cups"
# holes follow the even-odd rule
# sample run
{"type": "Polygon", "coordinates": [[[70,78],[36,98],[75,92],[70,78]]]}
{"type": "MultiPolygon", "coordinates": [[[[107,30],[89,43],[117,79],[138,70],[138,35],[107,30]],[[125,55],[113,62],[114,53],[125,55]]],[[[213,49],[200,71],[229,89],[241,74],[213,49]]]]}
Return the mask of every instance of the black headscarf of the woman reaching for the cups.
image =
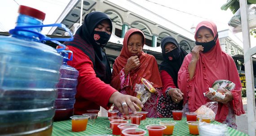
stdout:
{"type": "Polygon", "coordinates": [[[111,81],[111,70],[108,58],[102,47],[97,45],[93,38],[94,29],[103,20],[109,21],[110,32],[112,32],[111,20],[105,13],[91,12],[84,17],[84,23],[75,33],[74,40],[65,42],[65,44],[81,49],[93,62],[96,76],[109,84],[111,81]]]}

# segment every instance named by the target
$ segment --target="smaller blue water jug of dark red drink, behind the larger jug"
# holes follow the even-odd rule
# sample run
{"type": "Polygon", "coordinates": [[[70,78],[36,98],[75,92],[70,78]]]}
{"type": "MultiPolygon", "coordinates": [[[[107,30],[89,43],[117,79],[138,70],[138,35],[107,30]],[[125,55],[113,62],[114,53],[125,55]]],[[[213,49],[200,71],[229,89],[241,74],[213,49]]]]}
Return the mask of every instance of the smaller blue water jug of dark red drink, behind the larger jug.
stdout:
{"type": "Polygon", "coordinates": [[[63,57],[63,64],[60,69],[61,78],[57,84],[58,95],[55,101],[54,121],[69,120],[74,114],[77,78],[79,76],[79,72],[74,67],[67,65],[67,61],[72,61],[72,51],[68,50],[66,46],[57,46],[57,50],[63,57]]]}

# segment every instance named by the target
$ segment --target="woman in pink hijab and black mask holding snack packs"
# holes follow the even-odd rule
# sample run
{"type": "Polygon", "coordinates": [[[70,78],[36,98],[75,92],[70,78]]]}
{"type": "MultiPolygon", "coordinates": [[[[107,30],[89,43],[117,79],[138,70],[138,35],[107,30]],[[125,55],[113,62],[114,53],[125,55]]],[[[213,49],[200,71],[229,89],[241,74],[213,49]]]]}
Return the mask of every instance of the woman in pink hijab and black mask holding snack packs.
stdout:
{"type": "Polygon", "coordinates": [[[210,102],[203,95],[213,82],[225,79],[235,83],[232,91],[226,91],[225,99],[217,100],[215,120],[237,128],[235,115],[244,114],[241,98],[241,81],[233,58],[221,50],[216,25],[211,21],[200,22],[194,36],[196,46],[186,55],[178,72],[178,87],[184,94],[185,111],[196,111],[210,102]]]}

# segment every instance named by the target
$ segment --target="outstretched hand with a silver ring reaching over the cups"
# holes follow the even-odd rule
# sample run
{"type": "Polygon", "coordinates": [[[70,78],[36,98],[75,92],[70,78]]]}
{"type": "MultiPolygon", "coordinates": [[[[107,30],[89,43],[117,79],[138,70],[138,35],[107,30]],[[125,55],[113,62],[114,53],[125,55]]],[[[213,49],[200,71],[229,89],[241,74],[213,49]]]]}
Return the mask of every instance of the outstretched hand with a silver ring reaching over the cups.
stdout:
{"type": "Polygon", "coordinates": [[[133,114],[137,114],[136,111],[139,111],[140,107],[143,108],[143,104],[137,97],[133,97],[131,95],[123,95],[118,91],[114,92],[110,96],[109,103],[114,103],[115,106],[118,107],[120,113],[123,115],[129,115],[128,107],[131,108],[133,114]]]}

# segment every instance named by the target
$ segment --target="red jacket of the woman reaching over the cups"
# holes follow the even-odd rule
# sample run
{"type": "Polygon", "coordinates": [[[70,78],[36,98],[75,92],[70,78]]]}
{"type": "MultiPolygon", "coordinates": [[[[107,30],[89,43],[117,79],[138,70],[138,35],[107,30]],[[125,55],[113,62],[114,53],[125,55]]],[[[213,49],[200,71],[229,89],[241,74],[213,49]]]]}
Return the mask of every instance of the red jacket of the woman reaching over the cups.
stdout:
{"type": "Polygon", "coordinates": [[[81,115],[87,110],[99,110],[100,106],[108,110],[112,105],[109,103],[110,96],[116,90],[96,77],[93,62],[82,50],[67,47],[73,51],[73,60],[67,64],[79,71],[74,114],[81,115]]]}

